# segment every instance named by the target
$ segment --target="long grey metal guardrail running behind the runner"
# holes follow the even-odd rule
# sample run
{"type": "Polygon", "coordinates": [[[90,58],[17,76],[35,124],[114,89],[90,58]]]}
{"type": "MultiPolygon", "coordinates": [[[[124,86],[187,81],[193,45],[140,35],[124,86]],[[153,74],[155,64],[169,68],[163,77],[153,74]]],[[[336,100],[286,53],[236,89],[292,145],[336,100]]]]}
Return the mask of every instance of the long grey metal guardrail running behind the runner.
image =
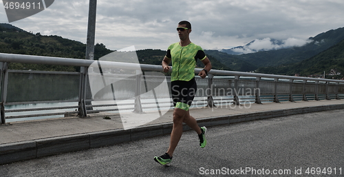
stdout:
{"type": "MultiPolygon", "coordinates": [[[[132,70],[133,68],[141,68],[144,71],[162,72],[161,65],[145,65],[136,63],[120,63],[111,61],[97,61],[102,63],[102,66],[108,68],[120,68],[124,70],[132,70]]],[[[82,117],[92,112],[100,111],[116,111],[117,109],[103,109],[92,110],[90,107],[109,107],[118,106],[117,104],[91,105],[92,98],[87,98],[87,76],[88,68],[94,61],[83,59],[67,59],[50,56],[30,56],[21,54],[2,54],[0,53],[0,79],[1,79],[1,124],[6,123],[7,118],[21,118],[29,116],[52,116],[59,114],[78,114],[82,117]],[[8,70],[8,63],[32,63],[44,65],[71,65],[81,67],[80,72],[41,72],[28,70],[8,70]],[[8,101],[8,75],[10,73],[27,73],[27,74],[66,74],[78,76],[78,98],[60,101],[8,101]],[[77,102],[78,105],[61,106],[61,107],[41,107],[30,109],[5,110],[5,105],[18,104],[32,104],[32,103],[61,103],[61,102],[77,102]],[[40,110],[65,110],[74,109],[74,112],[53,112],[53,113],[38,113],[21,116],[6,116],[6,112],[32,112],[40,110]]],[[[196,68],[195,73],[202,69],[196,68]]],[[[135,102],[128,103],[133,105],[133,112],[142,113],[142,109],[149,108],[142,107],[140,100],[140,79],[142,74],[136,77],[136,95],[135,102]]],[[[200,80],[201,81],[201,80],[200,80]]],[[[249,72],[234,72],[224,70],[211,70],[208,73],[206,80],[202,80],[200,87],[204,87],[206,93],[195,98],[197,104],[215,107],[216,104],[234,103],[240,105],[242,101],[250,101],[252,103],[262,103],[265,101],[273,101],[279,103],[280,101],[308,101],[309,99],[341,99],[344,96],[344,81],[332,79],[314,79],[299,76],[283,76],[273,74],[257,74],[249,72]],[[229,77],[228,77],[229,76],[229,77]],[[206,81],[206,83],[204,83],[206,81]],[[203,85],[202,85],[203,84],[203,85]],[[244,90],[250,90],[249,94],[244,93],[244,90]],[[252,92],[253,91],[253,92],[252,92]],[[228,94],[230,93],[230,94],[228,94]],[[217,98],[221,97],[221,98],[217,98]]],[[[167,101],[170,103],[171,101],[167,101]]],[[[146,103],[148,105],[148,103],[146,103]]],[[[131,109],[131,108],[128,108],[131,109]]]]}

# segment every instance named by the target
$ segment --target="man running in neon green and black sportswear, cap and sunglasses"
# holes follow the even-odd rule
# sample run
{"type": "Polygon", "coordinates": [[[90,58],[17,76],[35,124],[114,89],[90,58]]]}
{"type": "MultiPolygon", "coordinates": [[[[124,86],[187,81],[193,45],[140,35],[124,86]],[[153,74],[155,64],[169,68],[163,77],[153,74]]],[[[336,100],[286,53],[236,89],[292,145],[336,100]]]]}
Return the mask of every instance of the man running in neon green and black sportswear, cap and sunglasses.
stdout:
{"type": "Polygon", "coordinates": [[[178,35],[180,42],[169,46],[166,56],[162,60],[164,72],[169,72],[172,61],[171,74],[171,92],[173,105],[173,128],[169,149],[162,156],[155,156],[154,160],[160,165],[169,166],[172,160],[173,152],[177,147],[183,132],[182,123],[186,123],[197,132],[200,139],[200,147],[206,146],[206,127],[199,127],[193,116],[190,116],[189,107],[195,97],[197,85],[195,82],[195,65],[197,59],[204,63],[204,69],[198,74],[202,79],[211,70],[211,61],[209,61],[202,48],[191,43],[189,34],[191,33],[191,23],[189,21],[180,21],[178,23],[178,35]]]}

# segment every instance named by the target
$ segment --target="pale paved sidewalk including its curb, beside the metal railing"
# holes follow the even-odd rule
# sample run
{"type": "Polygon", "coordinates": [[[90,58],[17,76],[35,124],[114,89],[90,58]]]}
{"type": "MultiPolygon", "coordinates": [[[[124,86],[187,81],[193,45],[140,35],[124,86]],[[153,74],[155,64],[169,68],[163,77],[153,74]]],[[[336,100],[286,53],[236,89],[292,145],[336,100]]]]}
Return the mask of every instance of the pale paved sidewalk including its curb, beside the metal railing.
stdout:
{"type": "MultiPolygon", "coordinates": [[[[204,107],[191,109],[190,113],[200,126],[211,127],[343,108],[343,100],[298,101],[252,104],[249,108],[244,105],[204,107]]],[[[149,114],[147,112],[144,116],[149,114]]],[[[172,114],[170,110],[147,125],[127,130],[123,129],[118,114],[105,112],[89,114],[87,118],[71,116],[0,125],[0,164],[170,134],[172,114]],[[105,116],[111,119],[105,119],[105,116]]],[[[184,130],[189,130],[189,127],[184,126],[184,130]]]]}

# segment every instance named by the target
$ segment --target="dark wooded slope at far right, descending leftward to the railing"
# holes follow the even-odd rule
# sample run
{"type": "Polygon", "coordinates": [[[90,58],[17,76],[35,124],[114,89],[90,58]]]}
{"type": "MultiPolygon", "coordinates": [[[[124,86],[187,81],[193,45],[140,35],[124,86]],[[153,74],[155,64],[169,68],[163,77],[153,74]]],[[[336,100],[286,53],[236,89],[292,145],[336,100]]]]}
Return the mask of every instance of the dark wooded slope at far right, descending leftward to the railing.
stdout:
{"type": "Polygon", "coordinates": [[[278,67],[261,67],[257,72],[299,74],[300,76],[321,76],[325,72],[328,79],[342,79],[344,74],[344,40],[310,59],[278,67]]]}

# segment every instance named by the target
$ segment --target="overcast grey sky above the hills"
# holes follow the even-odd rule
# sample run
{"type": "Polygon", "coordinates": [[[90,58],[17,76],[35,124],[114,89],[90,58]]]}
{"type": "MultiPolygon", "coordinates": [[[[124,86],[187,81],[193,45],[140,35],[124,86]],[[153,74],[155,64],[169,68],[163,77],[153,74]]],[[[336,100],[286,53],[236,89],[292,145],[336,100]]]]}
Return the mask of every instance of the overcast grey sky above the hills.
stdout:
{"type": "MultiPolygon", "coordinates": [[[[11,24],[86,43],[88,8],[89,0],[55,0],[46,10],[11,24]]],[[[179,41],[175,28],[182,20],[191,22],[191,41],[204,49],[228,49],[255,39],[266,44],[267,38],[300,45],[344,27],[344,1],[98,0],[96,43],[111,50],[131,45],[166,50],[179,41]]],[[[0,23],[8,23],[4,8],[0,23]]]]}

